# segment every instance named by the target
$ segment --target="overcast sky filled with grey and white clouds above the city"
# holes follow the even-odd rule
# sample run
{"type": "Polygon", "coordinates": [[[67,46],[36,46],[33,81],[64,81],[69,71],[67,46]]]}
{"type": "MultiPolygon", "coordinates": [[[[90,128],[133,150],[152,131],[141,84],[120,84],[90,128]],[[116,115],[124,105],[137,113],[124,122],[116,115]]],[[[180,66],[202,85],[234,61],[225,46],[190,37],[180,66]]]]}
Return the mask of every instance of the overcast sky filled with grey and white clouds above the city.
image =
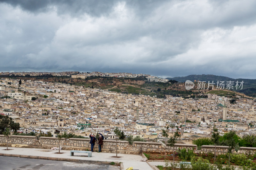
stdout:
{"type": "Polygon", "coordinates": [[[255,0],[0,0],[0,71],[256,79],[255,0]]]}

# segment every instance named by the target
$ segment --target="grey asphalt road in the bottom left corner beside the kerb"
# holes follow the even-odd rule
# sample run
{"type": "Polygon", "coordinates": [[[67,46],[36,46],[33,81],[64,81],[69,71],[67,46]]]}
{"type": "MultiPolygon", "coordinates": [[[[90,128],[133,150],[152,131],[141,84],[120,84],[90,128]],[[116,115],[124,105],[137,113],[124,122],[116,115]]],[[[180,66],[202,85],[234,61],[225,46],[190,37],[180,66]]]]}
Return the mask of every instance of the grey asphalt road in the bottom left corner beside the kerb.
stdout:
{"type": "Polygon", "coordinates": [[[120,170],[108,164],[92,164],[0,156],[0,170],[120,170]]]}

